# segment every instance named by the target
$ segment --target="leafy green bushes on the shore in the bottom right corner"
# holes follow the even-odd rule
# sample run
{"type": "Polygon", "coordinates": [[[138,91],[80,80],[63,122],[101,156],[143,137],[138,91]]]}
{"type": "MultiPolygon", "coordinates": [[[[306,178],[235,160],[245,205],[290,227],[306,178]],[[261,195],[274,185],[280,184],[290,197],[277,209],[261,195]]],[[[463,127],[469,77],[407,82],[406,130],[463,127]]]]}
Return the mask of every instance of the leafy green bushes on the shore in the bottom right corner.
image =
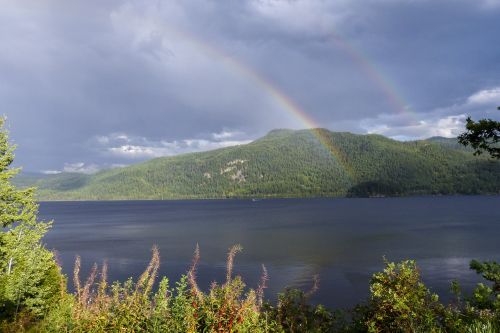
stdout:
{"type": "MultiPolygon", "coordinates": [[[[475,269],[478,262],[473,261],[475,269]]],[[[482,265],[491,272],[491,265],[482,265]]],[[[488,263],[491,264],[491,263],[488,263]]],[[[495,270],[494,268],[493,270],[495,270]]],[[[483,275],[484,276],[484,275],[483,275]]],[[[456,301],[443,305],[420,279],[412,260],[386,262],[383,272],[370,283],[370,300],[352,310],[351,321],[341,332],[499,332],[500,308],[492,289],[480,283],[471,296],[463,297],[455,281],[456,301]],[[485,300],[489,300],[485,302],[485,300]]]]}

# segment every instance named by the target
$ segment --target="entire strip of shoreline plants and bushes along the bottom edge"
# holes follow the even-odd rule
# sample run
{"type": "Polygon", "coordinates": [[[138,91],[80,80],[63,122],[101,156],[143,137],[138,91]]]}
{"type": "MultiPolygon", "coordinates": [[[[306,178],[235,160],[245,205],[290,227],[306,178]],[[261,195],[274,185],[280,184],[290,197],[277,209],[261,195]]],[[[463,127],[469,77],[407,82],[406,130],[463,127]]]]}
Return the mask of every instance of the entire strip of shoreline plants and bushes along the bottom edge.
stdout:
{"type": "MultiPolygon", "coordinates": [[[[235,257],[241,250],[240,245],[229,249],[225,280],[213,282],[207,291],[197,282],[198,245],[187,273],[173,286],[166,277],[158,277],[160,252],[156,246],[137,281],[130,278],[123,283],[108,282],[106,263],[101,267],[94,264],[82,281],[81,259],[77,256],[74,293],[63,292],[42,319],[19,316],[0,325],[0,331],[500,332],[498,290],[480,284],[467,299],[453,284],[457,301],[444,306],[422,283],[414,261],[386,261],[386,268],[373,275],[368,301],[345,312],[311,305],[311,296],[319,290],[317,276],[309,291],[285,289],[278,294],[278,302],[271,304],[264,298],[269,280],[265,266],[255,289],[233,274],[235,257]]],[[[484,269],[497,267],[495,263],[486,264],[477,263],[475,267],[483,275],[484,269]]],[[[497,275],[487,277],[497,281],[497,275]]]]}

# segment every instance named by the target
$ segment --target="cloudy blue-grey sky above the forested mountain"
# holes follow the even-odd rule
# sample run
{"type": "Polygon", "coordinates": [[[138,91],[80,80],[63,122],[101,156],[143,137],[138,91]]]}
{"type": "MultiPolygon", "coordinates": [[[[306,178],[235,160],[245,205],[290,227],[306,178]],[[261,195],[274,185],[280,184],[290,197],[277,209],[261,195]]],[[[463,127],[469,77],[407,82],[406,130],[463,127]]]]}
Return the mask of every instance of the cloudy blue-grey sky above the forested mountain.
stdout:
{"type": "Polygon", "coordinates": [[[25,171],[92,173],[323,127],[500,119],[500,0],[0,0],[25,171]]]}

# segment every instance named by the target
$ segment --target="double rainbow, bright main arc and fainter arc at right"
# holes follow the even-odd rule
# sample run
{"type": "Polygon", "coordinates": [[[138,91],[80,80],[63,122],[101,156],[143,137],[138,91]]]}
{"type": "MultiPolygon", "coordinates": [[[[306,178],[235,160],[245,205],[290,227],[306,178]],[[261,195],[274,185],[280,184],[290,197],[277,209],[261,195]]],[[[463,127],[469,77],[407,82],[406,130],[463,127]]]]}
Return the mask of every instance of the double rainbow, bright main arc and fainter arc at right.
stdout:
{"type": "MultiPolygon", "coordinates": [[[[207,56],[216,59],[217,61],[223,63],[226,67],[239,73],[244,78],[254,82],[260,89],[266,92],[272,100],[280,106],[281,109],[286,111],[294,119],[298,120],[305,128],[310,129],[311,133],[319,141],[319,143],[332,155],[332,157],[340,164],[344,172],[348,175],[350,182],[354,182],[356,177],[352,166],[347,162],[345,154],[337,147],[333,142],[328,132],[321,129],[321,126],[300,106],[298,106],[289,96],[283,93],[278,87],[267,80],[264,76],[259,74],[254,69],[245,65],[239,60],[231,57],[222,50],[213,47],[212,45],[204,42],[198,37],[186,32],[181,31],[177,28],[162,25],[166,31],[177,37],[182,38],[183,41],[188,41],[196,49],[202,51],[207,56]]],[[[394,89],[391,87],[387,80],[384,80],[381,75],[370,65],[370,63],[356,52],[355,49],[348,44],[346,41],[342,40],[339,36],[332,34],[332,41],[341,47],[350,58],[358,64],[358,66],[363,70],[365,75],[367,75],[377,86],[382,88],[382,91],[387,96],[391,104],[396,110],[400,112],[406,112],[410,114],[404,99],[399,97],[398,94],[394,93],[394,89]]]]}

